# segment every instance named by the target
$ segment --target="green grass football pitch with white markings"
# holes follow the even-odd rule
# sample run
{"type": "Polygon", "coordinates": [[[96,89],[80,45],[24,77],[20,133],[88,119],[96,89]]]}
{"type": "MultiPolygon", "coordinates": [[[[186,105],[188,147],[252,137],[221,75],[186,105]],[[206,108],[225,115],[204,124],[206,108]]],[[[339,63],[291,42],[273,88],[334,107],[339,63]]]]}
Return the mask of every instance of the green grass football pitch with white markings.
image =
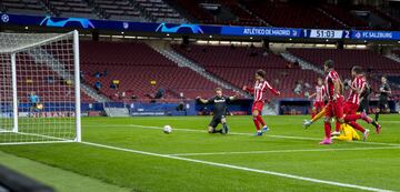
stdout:
{"type": "Polygon", "coordinates": [[[228,117],[226,135],[207,133],[211,117],[82,118],[82,143],[0,145],[0,163],[64,192],[400,191],[399,115],[332,145],[309,117],[263,118],[262,137],[251,117],[228,117]]]}

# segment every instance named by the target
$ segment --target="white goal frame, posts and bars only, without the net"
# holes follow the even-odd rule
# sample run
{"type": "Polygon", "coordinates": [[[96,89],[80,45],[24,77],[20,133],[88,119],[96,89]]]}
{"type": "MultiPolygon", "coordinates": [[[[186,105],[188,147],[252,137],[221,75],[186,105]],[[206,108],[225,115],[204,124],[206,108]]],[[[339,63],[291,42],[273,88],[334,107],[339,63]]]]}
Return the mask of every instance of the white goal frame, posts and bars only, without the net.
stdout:
{"type": "Polygon", "coordinates": [[[11,85],[12,85],[12,122],[13,127],[10,131],[3,131],[0,129],[1,132],[12,132],[16,134],[24,134],[24,135],[34,135],[34,137],[43,137],[49,139],[56,139],[58,141],[32,141],[32,142],[4,142],[0,143],[0,145],[9,145],[9,144],[34,144],[34,143],[59,143],[59,142],[81,142],[81,95],[80,95],[80,58],[79,58],[79,32],[78,30],[70,31],[68,33],[63,33],[53,38],[49,38],[46,40],[41,40],[24,47],[11,49],[9,51],[4,51],[2,53],[10,54],[11,61],[11,85]],[[48,42],[52,42],[63,36],[72,36],[73,39],[73,89],[74,89],[74,122],[76,122],[76,138],[73,140],[67,140],[62,138],[42,135],[42,134],[34,134],[34,133],[24,133],[19,132],[19,109],[18,109],[18,83],[17,83],[17,53],[26,51],[27,49],[43,46],[48,42]]]}

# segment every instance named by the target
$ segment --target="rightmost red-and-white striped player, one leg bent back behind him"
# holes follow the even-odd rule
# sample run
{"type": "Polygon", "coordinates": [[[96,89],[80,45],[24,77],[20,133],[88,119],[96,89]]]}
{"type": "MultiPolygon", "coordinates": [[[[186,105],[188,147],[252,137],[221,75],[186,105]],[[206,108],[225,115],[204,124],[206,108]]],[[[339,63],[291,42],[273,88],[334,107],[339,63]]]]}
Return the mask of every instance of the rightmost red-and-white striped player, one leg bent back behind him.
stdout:
{"type": "Polygon", "coordinates": [[[367,123],[372,123],[376,125],[377,132],[381,129],[381,127],[374,122],[371,118],[367,115],[363,111],[360,114],[357,114],[357,110],[360,105],[360,94],[364,91],[367,87],[366,78],[362,75],[361,67],[353,67],[351,69],[351,75],[354,78],[353,81],[350,83],[350,94],[348,100],[343,105],[344,112],[344,121],[353,127],[354,129],[361,131],[363,133],[363,140],[366,141],[369,135],[369,130],[362,128],[356,121],[359,119],[364,120],[367,123]]]}

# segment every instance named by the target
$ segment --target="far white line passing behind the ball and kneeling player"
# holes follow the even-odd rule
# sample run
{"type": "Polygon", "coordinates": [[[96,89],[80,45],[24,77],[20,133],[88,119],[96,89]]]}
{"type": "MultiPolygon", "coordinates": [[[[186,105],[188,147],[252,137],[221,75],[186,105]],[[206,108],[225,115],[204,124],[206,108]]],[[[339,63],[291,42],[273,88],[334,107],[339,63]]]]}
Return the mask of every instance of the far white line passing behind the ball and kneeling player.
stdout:
{"type": "MultiPolygon", "coordinates": [[[[140,124],[124,124],[124,125],[119,125],[119,127],[132,127],[132,128],[156,129],[156,130],[162,130],[162,129],[163,129],[163,128],[161,128],[161,127],[149,127],[149,125],[140,125],[140,124]]],[[[201,132],[201,133],[207,133],[207,131],[203,131],[203,130],[194,130],[194,129],[173,128],[173,130],[187,131],[187,132],[201,132]]],[[[233,135],[253,135],[252,133],[240,133],[240,132],[229,132],[228,134],[233,134],[233,135]]],[[[321,141],[321,139],[318,139],[318,138],[277,135],[277,134],[270,134],[269,132],[267,132],[266,134],[263,134],[263,137],[278,138],[278,139],[293,139],[293,140],[321,141]]],[[[358,144],[374,144],[374,145],[388,145],[388,146],[400,146],[400,144],[396,144],[396,143],[381,143],[381,142],[352,141],[351,143],[358,143],[358,144]]]]}

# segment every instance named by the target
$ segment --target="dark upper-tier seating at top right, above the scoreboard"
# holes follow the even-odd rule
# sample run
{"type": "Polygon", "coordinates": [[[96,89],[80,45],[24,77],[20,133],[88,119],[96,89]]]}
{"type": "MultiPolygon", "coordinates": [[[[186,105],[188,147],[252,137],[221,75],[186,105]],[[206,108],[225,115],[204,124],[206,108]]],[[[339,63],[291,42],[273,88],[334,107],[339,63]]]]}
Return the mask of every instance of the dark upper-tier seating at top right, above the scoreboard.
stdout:
{"type": "Polygon", "coordinates": [[[244,2],[243,4],[271,26],[279,27],[397,30],[400,26],[398,19],[370,6],[308,4],[303,2],[270,2],[257,0],[244,2]],[[361,17],[354,14],[357,11],[362,11],[369,17],[361,19],[361,17]],[[371,19],[371,14],[378,17],[383,23],[374,23],[377,21],[371,19]]]}

